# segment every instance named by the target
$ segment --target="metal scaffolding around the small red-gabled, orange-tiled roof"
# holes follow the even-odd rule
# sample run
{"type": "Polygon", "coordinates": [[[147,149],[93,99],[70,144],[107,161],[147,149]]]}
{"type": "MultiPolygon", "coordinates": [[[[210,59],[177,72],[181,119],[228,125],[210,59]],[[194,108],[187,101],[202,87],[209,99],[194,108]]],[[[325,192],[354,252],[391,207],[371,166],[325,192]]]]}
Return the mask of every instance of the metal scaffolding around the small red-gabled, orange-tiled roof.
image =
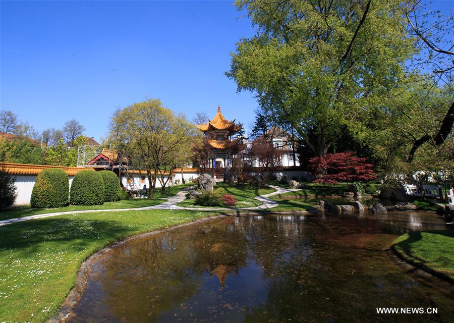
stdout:
{"type": "Polygon", "coordinates": [[[117,173],[120,184],[126,178],[126,190],[140,194],[140,184],[134,180],[131,157],[125,151],[117,151],[109,145],[80,145],[77,149],[77,167],[89,167],[109,170],[117,173]]]}

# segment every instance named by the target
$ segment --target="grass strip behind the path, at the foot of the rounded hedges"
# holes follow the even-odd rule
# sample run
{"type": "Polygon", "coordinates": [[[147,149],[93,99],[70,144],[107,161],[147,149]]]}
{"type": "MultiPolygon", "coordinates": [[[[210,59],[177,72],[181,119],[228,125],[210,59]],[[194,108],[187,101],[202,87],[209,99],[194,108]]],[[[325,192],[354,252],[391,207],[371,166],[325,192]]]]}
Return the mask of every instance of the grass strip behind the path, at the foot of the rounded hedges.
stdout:
{"type": "MultiPolygon", "coordinates": [[[[183,185],[171,186],[171,196],[174,196],[180,190],[193,186],[194,183],[188,183],[183,185]]],[[[167,193],[167,191],[166,191],[167,193]]],[[[27,216],[34,216],[36,214],[44,214],[50,212],[64,212],[64,211],[79,211],[79,210],[105,210],[105,209],[118,209],[118,208],[135,208],[153,206],[165,202],[161,197],[167,197],[168,195],[161,195],[161,189],[155,190],[153,199],[128,199],[120,200],[117,202],[104,202],[102,205],[68,205],[65,207],[58,208],[31,208],[30,204],[15,206],[9,210],[0,212],[0,220],[7,220],[13,218],[21,218],[27,216]]]]}

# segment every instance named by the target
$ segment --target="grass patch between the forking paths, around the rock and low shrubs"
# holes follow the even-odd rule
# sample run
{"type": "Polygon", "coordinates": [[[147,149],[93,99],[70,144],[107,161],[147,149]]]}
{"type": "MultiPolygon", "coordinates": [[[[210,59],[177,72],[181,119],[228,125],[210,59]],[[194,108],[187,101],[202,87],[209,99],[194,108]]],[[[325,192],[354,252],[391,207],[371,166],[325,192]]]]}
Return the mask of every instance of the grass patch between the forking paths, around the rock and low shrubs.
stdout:
{"type": "MultiPolygon", "coordinates": [[[[254,197],[258,195],[268,194],[275,192],[275,189],[271,187],[258,188],[253,185],[235,185],[235,184],[226,184],[223,182],[218,182],[214,186],[216,190],[221,190],[225,194],[234,195],[237,199],[237,205],[234,207],[251,207],[258,206],[262,203],[256,200],[254,197]]],[[[179,206],[185,207],[203,207],[200,205],[195,205],[194,200],[186,199],[183,202],[178,203],[179,206]]],[[[209,208],[206,206],[206,208],[209,208]]]]}

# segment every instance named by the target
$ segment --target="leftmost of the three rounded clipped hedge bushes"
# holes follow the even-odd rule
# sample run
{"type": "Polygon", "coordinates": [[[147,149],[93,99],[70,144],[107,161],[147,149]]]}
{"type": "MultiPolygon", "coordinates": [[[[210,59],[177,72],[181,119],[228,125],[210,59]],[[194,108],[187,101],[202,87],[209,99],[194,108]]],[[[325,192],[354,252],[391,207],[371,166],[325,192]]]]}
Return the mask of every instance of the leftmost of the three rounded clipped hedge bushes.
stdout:
{"type": "Polygon", "coordinates": [[[54,208],[68,205],[69,178],[61,169],[48,168],[36,177],[31,207],[54,208]]]}

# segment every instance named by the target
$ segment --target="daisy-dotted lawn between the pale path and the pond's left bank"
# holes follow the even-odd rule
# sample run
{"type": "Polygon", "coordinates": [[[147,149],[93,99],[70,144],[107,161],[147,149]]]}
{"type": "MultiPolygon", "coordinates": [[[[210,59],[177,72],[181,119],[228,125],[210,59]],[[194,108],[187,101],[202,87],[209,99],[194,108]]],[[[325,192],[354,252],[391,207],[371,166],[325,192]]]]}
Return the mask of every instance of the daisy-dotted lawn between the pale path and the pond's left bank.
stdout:
{"type": "Polygon", "coordinates": [[[110,242],[207,217],[134,210],[66,214],[0,227],[0,320],[42,322],[74,286],[86,257],[110,242]]]}

